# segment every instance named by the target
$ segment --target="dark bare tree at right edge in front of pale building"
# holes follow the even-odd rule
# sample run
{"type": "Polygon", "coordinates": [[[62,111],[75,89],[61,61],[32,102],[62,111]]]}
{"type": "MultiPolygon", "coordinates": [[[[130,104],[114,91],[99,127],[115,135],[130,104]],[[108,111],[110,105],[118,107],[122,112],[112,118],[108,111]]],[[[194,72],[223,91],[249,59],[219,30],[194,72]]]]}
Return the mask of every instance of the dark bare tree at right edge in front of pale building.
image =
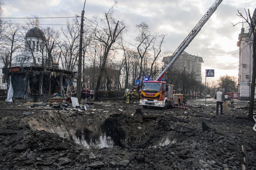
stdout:
{"type": "MultiPolygon", "coordinates": [[[[251,94],[250,94],[250,106],[249,106],[249,115],[248,119],[253,120],[253,110],[254,110],[254,93],[255,93],[255,80],[256,80],[256,9],[251,16],[250,10],[248,12],[244,9],[246,16],[244,16],[241,12],[238,12],[237,16],[242,17],[245,22],[249,25],[249,34],[251,39],[247,41],[248,44],[252,44],[252,84],[251,84],[251,94]]],[[[238,23],[237,23],[238,24],[238,23]]],[[[233,26],[237,25],[233,24],[233,26]]]]}

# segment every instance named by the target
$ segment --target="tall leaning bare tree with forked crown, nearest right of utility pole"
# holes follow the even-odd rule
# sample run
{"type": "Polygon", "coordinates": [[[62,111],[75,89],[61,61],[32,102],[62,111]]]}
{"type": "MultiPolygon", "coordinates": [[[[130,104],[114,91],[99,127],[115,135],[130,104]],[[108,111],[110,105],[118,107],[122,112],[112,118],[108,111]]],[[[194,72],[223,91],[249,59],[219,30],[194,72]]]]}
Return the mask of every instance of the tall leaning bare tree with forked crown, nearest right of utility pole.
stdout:
{"type": "MultiPolygon", "coordinates": [[[[124,28],[125,28],[125,24],[123,21],[119,22],[119,21],[116,21],[116,19],[114,18],[113,7],[114,6],[112,6],[112,8],[105,13],[105,19],[102,20],[102,23],[105,25],[104,30],[103,31],[99,30],[98,25],[94,30],[94,35],[95,35],[94,39],[99,41],[104,47],[104,54],[101,61],[102,64],[100,66],[96,90],[99,90],[101,78],[103,74],[106,73],[106,63],[109,58],[109,53],[111,50],[116,49],[116,46],[114,46],[114,43],[118,40],[118,38],[120,38],[120,34],[124,31],[124,28]]],[[[107,81],[109,82],[109,79],[107,81]]],[[[107,84],[107,89],[109,89],[108,84],[107,84]]]]}

